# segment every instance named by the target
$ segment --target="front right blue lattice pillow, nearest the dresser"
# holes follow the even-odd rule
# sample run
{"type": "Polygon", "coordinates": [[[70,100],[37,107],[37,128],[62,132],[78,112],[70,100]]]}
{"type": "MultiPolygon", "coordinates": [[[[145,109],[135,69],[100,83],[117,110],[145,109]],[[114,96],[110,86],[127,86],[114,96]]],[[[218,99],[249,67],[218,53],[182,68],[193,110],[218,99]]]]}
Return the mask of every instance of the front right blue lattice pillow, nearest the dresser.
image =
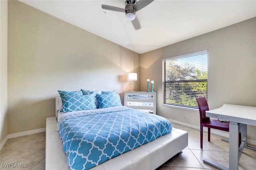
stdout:
{"type": "Polygon", "coordinates": [[[122,106],[119,94],[109,93],[109,94],[97,94],[99,109],[122,106]]]}

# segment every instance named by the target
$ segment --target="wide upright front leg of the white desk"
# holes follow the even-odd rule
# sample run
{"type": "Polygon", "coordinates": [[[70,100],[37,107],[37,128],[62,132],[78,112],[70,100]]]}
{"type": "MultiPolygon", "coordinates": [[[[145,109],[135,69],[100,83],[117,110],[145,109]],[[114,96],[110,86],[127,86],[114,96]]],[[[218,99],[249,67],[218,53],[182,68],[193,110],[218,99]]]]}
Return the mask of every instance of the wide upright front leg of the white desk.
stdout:
{"type": "Polygon", "coordinates": [[[239,123],[229,123],[229,169],[238,170],[238,127],[239,123]]]}

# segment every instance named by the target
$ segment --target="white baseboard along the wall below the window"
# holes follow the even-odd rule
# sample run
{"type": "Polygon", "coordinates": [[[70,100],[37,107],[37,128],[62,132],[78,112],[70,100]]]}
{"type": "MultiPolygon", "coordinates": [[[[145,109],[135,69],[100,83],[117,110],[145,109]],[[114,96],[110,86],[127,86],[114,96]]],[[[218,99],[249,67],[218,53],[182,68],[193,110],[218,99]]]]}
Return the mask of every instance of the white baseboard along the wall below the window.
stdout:
{"type": "MultiPolygon", "coordinates": [[[[168,119],[168,118],[166,118],[166,119],[168,119]]],[[[191,124],[184,123],[184,122],[181,122],[181,121],[176,121],[176,120],[173,120],[173,119],[168,119],[168,120],[169,120],[170,122],[177,123],[177,124],[179,124],[179,125],[184,125],[184,126],[187,126],[187,127],[191,127],[191,128],[200,130],[200,126],[191,125],[191,124]]],[[[207,132],[208,129],[207,129],[206,127],[204,127],[204,131],[207,132]]],[[[211,133],[213,133],[213,134],[215,134],[215,135],[220,135],[220,136],[222,136],[222,137],[229,138],[229,133],[224,133],[224,132],[216,131],[216,130],[214,130],[214,129],[211,129],[211,133]]],[[[247,144],[256,146],[256,141],[247,139],[247,144]]]]}

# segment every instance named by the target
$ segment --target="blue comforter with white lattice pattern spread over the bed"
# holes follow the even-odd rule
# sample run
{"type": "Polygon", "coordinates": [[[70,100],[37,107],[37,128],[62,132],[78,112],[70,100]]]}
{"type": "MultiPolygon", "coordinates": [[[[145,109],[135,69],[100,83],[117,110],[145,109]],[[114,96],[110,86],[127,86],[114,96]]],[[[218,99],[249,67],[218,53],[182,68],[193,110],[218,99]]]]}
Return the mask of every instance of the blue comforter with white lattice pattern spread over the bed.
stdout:
{"type": "Polygon", "coordinates": [[[158,115],[124,106],[70,113],[58,121],[70,170],[87,170],[170,133],[158,115]]]}

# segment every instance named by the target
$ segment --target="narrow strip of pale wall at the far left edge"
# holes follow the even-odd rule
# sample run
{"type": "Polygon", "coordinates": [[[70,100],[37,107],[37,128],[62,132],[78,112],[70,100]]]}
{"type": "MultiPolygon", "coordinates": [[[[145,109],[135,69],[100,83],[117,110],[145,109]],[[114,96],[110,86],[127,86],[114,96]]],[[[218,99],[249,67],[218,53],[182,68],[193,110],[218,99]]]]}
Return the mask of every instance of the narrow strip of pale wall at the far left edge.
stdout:
{"type": "Polygon", "coordinates": [[[0,143],[8,135],[7,116],[7,1],[0,1],[0,143]]]}

